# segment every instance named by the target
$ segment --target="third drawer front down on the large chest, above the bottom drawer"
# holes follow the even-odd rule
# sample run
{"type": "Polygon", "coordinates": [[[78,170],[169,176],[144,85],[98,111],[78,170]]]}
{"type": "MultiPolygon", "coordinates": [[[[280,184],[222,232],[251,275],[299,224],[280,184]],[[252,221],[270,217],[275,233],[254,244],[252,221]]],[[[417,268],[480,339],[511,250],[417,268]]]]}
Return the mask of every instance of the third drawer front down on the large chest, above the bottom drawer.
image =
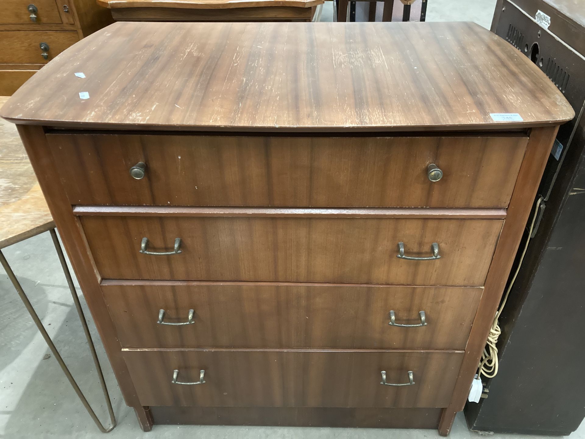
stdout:
{"type": "Polygon", "coordinates": [[[122,347],[464,349],[482,289],[167,283],[102,291],[122,347]],[[399,326],[421,325],[421,311],[424,326],[399,326]]]}

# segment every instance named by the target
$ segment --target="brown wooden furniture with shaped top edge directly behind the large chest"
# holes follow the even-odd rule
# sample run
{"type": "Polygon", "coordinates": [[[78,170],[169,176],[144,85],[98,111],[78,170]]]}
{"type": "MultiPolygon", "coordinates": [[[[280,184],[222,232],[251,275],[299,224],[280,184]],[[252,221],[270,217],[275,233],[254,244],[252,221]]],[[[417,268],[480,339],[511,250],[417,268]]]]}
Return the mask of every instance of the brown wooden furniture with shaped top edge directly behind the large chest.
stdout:
{"type": "MultiPolygon", "coordinates": [[[[309,22],[325,0],[97,0],[116,21],[309,22]]],[[[347,9],[347,8],[346,8],[347,9]]]]}

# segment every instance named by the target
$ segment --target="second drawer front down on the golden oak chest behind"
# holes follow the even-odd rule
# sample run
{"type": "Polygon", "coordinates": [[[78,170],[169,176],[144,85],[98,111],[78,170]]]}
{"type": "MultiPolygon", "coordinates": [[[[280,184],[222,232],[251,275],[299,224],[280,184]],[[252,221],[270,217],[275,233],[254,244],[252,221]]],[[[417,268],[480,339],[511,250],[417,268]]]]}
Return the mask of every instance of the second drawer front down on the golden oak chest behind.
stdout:
{"type": "Polygon", "coordinates": [[[78,41],[77,32],[0,32],[0,64],[46,64],[78,41]],[[41,43],[46,43],[48,49],[41,49],[41,43]]]}

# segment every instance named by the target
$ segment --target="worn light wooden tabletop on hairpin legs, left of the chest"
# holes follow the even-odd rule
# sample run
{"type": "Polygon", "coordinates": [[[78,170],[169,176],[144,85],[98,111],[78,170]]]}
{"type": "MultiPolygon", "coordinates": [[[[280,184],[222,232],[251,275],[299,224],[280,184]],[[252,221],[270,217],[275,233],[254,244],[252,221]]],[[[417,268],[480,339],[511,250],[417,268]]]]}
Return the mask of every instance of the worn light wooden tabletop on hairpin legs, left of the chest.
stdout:
{"type": "Polygon", "coordinates": [[[0,248],[54,227],[16,126],[0,119],[0,248]]]}

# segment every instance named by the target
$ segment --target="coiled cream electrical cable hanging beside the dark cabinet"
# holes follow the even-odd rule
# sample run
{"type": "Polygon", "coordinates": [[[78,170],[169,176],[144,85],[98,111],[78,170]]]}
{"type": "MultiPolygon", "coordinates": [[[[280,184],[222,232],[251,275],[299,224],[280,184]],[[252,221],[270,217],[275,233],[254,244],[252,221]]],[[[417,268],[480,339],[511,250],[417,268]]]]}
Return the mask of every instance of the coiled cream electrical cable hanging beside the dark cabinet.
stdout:
{"type": "Polygon", "coordinates": [[[530,224],[530,229],[528,231],[528,238],[526,238],[526,243],[524,244],[524,249],[522,250],[522,255],[518,260],[518,266],[510,280],[510,284],[508,285],[508,289],[506,290],[506,294],[504,296],[504,300],[502,301],[498,312],[495,313],[494,323],[491,325],[490,328],[490,335],[487,337],[486,347],[483,349],[483,354],[481,354],[481,360],[479,362],[477,375],[478,376],[485,376],[486,378],[494,378],[495,375],[498,373],[498,348],[496,344],[498,342],[498,338],[502,333],[500,328],[500,323],[498,319],[502,311],[504,310],[504,306],[506,301],[508,300],[508,296],[510,295],[510,291],[512,290],[512,286],[514,286],[514,282],[516,277],[518,276],[518,272],[520,271],[520,267],[522,266],[522,260],[524,260],[524,256],[526,255],[526,250],[528,249],[528,243],[530,242],[532,236],[532,229],[534,229],[534,223],[536,222],[536,217],[538,217],[538,208],[540,207],[544,198],[539,197],[538,201],[536,201],[536,207],[534,209],[534,215],[532,217],[532,222],[530,224]]]}

